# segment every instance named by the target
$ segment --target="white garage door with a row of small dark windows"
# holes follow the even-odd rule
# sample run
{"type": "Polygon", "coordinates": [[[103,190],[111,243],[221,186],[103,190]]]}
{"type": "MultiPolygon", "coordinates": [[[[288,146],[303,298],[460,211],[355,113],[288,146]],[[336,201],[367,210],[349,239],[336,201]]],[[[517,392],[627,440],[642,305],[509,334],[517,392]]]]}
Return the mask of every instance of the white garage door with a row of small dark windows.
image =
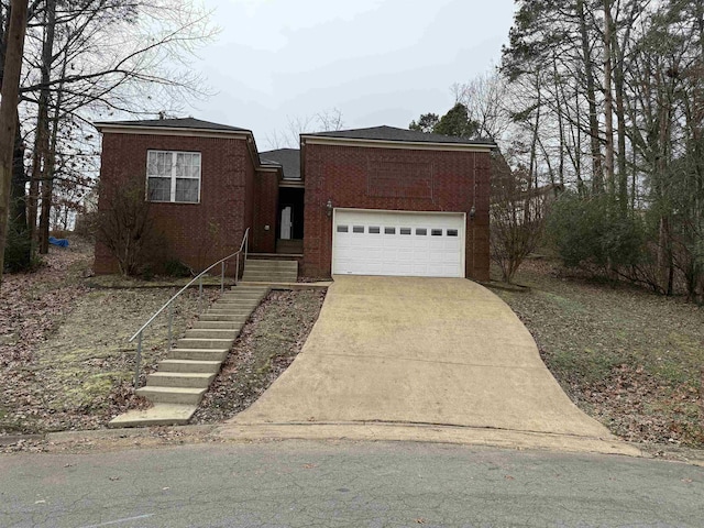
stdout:
{"type": "Polygon", "coordinates": [[[332,273],[464,276],[464,215],[336,209],[332,273]]]}

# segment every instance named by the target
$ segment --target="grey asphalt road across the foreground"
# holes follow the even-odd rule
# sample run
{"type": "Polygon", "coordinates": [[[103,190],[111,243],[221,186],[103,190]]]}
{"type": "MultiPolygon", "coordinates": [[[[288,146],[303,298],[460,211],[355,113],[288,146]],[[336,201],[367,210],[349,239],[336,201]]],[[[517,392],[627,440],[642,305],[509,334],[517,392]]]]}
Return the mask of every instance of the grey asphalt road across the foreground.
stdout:
{"type": "Polygon", "coordinates": [[[697,527],[704,469],[424,443],[0,455],[9,527],[697,527]]]}

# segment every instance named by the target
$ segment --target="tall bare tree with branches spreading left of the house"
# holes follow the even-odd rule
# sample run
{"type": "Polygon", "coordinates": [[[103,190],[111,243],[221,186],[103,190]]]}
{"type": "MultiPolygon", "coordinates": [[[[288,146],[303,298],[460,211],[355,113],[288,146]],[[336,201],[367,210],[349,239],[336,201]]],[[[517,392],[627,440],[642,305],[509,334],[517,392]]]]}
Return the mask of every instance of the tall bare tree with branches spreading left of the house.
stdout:
{"type": "Polygon", "coordinates": [[[32,235],[41,201],[38,240],[45,253],[54,182],[79,180],[84,163],[85,152],[61,141],[65,130],[88,136],[96,116],[173,112],[202,97],[207,90],[190,58],[217,29],[210,13],[188,0],[34,3],[41,9],[30,13],[21,95],[24,121],[35,125],[28,223],[32,235]],[[78,161],[57,165],[75,154],[78,161]]]}

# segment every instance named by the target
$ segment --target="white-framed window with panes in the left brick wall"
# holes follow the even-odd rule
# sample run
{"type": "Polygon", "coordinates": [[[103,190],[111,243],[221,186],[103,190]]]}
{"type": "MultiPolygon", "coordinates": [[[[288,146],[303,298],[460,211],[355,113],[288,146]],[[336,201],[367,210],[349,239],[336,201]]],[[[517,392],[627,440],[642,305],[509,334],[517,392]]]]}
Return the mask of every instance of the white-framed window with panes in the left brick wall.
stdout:
{"type": "Polygon", "coordinates": [[[200,153],[148,151],[146,189],[151,201],[200,201],[200,153]]]}

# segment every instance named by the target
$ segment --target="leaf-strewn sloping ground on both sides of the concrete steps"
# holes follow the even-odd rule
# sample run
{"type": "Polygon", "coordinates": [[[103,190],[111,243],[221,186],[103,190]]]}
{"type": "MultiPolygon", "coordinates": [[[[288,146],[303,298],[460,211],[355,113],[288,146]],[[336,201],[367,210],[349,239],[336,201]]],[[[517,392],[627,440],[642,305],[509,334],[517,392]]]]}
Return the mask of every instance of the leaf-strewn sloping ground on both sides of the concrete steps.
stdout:
{"type": "MultiPolygon", "coordinates": [[[[12,443],[10,436],[105,428],[118,414],[148,405],[134,395],[136,341],[129,339],[187,279],[90,277],[92,245],[70,242],[68,249],[52,248],[35,273],[8,275],[2,285],[0,444],[12,443]]],[[[219,288],[206,287],[202,306],[218,295],[219,288]]],[[[270,294],[243,328],[196,421],[228,418],[254,402],[298,353],[323,298],[321,290],[270,294]]],[[[179,297],[174,340],[199,308],[197,288],[179,297]]],[[[141,384],[167,352],[167,323],[164,314],[144,332],[141,384]]]]}

